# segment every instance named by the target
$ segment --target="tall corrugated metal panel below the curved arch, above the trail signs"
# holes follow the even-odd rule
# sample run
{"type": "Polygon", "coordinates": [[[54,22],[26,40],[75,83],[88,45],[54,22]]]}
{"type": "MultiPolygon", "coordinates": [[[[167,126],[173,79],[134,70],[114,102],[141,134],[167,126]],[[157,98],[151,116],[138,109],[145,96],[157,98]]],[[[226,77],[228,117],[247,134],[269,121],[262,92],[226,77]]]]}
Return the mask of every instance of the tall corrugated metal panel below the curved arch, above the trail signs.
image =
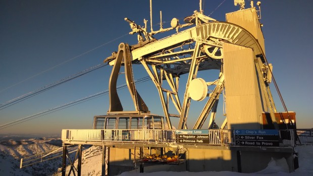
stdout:
{"type": "Polygon", "coordinates": [[[262,104],[251,48],[223,44],[229,129],[260,129],[262,104]]]}

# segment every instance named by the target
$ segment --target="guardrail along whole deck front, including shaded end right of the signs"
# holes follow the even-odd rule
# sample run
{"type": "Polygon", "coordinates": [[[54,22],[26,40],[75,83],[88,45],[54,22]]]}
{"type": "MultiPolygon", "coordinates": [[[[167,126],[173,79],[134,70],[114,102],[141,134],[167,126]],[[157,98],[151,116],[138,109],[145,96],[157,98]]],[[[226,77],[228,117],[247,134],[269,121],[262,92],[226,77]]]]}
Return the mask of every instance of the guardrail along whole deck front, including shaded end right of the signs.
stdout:
{"type": "MultiPolygon", "coordinates": [[[[62,130],[62,141],[181,144],[175,132],[176,130],[62,130]]],[[[207,136],[205,145],[236,145],[234,130],[208,130],[207,136]]],[[[279,130],[279,146],[295,146],[295,131],[279,130]]]]}

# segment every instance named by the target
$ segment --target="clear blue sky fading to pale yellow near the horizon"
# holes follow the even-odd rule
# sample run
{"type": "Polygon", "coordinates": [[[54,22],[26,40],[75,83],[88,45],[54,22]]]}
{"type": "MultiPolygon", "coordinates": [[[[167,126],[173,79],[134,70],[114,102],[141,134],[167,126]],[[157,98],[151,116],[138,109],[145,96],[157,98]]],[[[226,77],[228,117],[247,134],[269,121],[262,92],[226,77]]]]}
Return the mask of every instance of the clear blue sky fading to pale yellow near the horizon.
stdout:
{"type": "MultiPolygon", "coordinates": [[[[203,1],[204,14],[208,16],[214,11],[210,17],[225,21],[225,13],[239,9],[233,0],[226,0],[217,8],[223,1],[203,1]]],[[[284,101],[289,111],[296,112],[298,128],[312,128],[313,1],[261,2],[266,55],[274,66],[273,73],[284,101]]],[[[248,8],[249,1],[246,4],[248,8]]],[[[166,22],[164,27],[170,27],[172,18],[183,23],[182,19],[192,15],[198,6],[198,1],[152,1],[153,29],[159,28],[160,11],[162,21],[166,22]]],[[[121,42],[136,44],[136,35],[127,35],[131,30],[125,17],[143,25],[143,19],[150,20],[149,0],[0,1],[0,104],[102,63],[121,42]],[[85,53],[91,49],[94,50],[85,53]],[[78,56],[82,53],[85,54],[78,56]],[[54,67],[57,65],[60,66],[54,67]]],[[[107,90],[111,69],[98,69],[0,110],[0,125],[107,90]]],[[[140,65],[134,66],[134,74],[135,79],[147,76],[140,65]]],[[[185,85],[180,87],[182,91],[185,85]]],[[[284,111],[273,84],[271,88],[278,110],[284,111]]],[[[138,84],[137,89],[151,112],[163,115],[152,82],[138,84]]],[[[120,94],[124,109],[133,110],[128,90],[123,89],[120,94]]],[[[104,95],[0,130],[0,134],[91,129],[93,115],[106,114],[108,99],[109,96],[104,95]]],[[[189,116],[192,113],[190,111],[189,116]]],[[[223,119],[217,116],[218,124],[223,119]]]]}

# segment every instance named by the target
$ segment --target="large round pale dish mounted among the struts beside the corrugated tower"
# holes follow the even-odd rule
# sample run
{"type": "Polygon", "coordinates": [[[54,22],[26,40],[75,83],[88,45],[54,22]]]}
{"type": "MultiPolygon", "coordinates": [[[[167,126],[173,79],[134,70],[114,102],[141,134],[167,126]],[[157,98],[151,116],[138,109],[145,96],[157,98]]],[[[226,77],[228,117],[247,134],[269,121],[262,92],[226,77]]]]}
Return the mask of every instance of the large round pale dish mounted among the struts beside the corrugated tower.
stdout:
{"type": "Polygon", "coordinates": [[[202,78],[193,79],[189,84],[189,96],[195,101],[202,101],[206,95],[206,82],[202,78]]]}

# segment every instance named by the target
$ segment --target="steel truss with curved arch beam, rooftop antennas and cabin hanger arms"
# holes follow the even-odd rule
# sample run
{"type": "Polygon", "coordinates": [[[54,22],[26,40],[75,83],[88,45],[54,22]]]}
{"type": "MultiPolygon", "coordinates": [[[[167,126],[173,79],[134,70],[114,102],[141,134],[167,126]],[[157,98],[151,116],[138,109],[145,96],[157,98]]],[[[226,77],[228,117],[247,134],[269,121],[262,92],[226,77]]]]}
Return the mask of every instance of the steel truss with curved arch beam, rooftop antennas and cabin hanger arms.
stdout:
{"type": "MultiPolygon", "coordinates": [[[[210,19],[211,21],[204,21],[203,18],[198,17],[200,15],[201,17],[204,16],[198,12],[192,16],[193,21],[197,21],[194,27],[161,40],[155,40],[151,37],[155,32],[152,34],[144,33],[144,35],[148,35],[145,37],[145,41],[139,41],[139,44],[129,47],[127,44],[121,43],[118,52],[106,58],[104,62],[109,62],[110,65],[114,66],[110,79],[110,109],[108,113],[123,113],[123,108],[120,108],[122,106],[115,90],[118,71],[122,64],[122,52],[125,65],[125,77],[130,94],[133,97],[136,109],[135,113],[148,112],[147,106],[135,90],[134,84],[132,84],[134,81],[131,64],[142,64],[158,90],[168,129],[172,129],[171,117],[179,118],[178,129],[187,128],[188,111],[192,103],[190,93],[193,91],[190,90],[190,84],[193,80],[199,79],[197,78],[197,73],[203,70],[220,70],[218,80],[204,83],[207,86],[213,85],[215,88],[213,91],[202,95],[201,100],[206,96],[209,98],[193,126],[193,129],[200,129],[208,114],[211,112],[208,125],[208,127],[211,128],[215,120],[219,96],[225,88],[223,43],[231,43],[253,50],[258,80],[260,87],[262,87],[262,90],[265,92],[264,97],[267,105],[265,109],[270,112],[271,120],[277,129],[274,114],[276,107],[269,88],[271,65],[266,60],[262,46],[258,43],[257,39],[243,27],[227,22],[217,22],[213,19],[210,19]],[[124,48],[124,46],[127,46],[127,49],[124,48]],[[188,74],[188,79],[183,100],[180,101],[178,96],[179,77],[183,74],[188,74]],[[170,90],[165,88],[166,86],[163,84],[164,80],[168,83],[170,90]],[[174,104],[177,112],[169,112],[170,101],[174,104]],[[118,104],[117,107],[119,108],[112,108],[115,104],[118,104]]],[[[189,17],[188,19],[192,18],[189,17]]],[[[130,20],[128,22],[131,26],[137,26],[130,20]]],[[[134,30],[134,28],[132,29],[134,30]]],[[[136,28],[135,32],[140,34],[142,31],[143,29],[136,28]]],[[[223,127],[227,123],[226,121],[227,118],[223,127]]]]}

